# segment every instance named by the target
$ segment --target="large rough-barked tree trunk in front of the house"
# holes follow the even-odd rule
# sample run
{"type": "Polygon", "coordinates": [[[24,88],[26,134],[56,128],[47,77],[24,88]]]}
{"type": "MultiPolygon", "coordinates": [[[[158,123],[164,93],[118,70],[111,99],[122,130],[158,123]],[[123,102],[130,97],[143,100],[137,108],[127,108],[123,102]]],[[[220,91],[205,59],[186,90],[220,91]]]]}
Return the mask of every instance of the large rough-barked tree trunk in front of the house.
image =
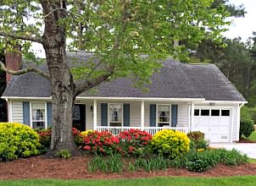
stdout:
{"type": "Polygon", "coordinates": [[[75,84],[65,51],[65,26],[59,25],[59,20],[64,19],[66,15],[65,1],[42,0],[42,8],[46,15],[43,47],[47,57],[53,99],[53,132],[51,151],[48,154],[54,155],[58,150],[67,149],[73,155],[77,155],[79,150],[75,146],[72,134],[75,84]],[[56,10],[58,8],[63,9],[56,10]]]}

